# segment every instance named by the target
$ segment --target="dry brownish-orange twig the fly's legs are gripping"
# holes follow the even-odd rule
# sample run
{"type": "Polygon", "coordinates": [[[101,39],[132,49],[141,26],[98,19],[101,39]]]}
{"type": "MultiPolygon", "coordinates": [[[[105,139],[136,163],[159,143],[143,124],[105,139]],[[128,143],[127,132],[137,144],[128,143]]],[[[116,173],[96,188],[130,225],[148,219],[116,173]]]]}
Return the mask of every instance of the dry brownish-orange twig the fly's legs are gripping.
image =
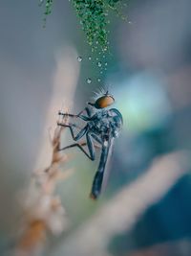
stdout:
{"type": "MultiPolygon", "coordinates": [[[[67,123],[67,119],[62,119],[67,123]]],[[[67,225],[65,211],[60,198],[54,195],[57,181],[66,179],[71,175],[71,170],[64,173],[60,164],[67,161],[68,157],[59,151],[63,127],[56,127],[53,134],[53,155],[51,164],[41,172],[35,172],[32,184],[24,203],[25,223],[22,235],[16,247],[16,255],[36,255],[43,249],[49,232],[53,235],[60,234],[67,225]]]]}

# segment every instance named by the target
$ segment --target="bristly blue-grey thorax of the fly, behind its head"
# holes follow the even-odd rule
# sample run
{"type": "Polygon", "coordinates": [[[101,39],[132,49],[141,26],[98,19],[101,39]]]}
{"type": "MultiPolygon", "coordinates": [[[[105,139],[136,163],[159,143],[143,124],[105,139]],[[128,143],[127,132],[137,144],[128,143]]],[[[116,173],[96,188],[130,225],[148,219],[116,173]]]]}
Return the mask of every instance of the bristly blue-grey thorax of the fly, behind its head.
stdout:
{"type": "Polygon", "coordinates": [[[104,109],[96,112],[92,117],[89,122],[89,128],[101,137],[109,135],[117,137],[121,128],[121,120],[111,109],[104,109]]]}

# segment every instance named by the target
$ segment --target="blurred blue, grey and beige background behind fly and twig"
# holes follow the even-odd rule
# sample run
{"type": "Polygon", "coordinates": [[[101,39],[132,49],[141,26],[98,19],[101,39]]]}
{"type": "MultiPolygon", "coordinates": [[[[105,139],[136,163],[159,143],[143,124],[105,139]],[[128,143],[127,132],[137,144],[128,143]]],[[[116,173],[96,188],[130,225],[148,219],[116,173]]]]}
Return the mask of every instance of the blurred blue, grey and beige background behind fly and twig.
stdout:
{"type": "Polygon", "coordinates": [[[111,16],[113,56],[97,82],[70,1],[55,1],[45,29],[37,1],[0,2],[0,255],[20,228],[20,193],[50,161],[57,111],[79,112],[99,86],[124,118],[107,189],[89,198],[98,159],[73,150],[63,170],[74,175],[56,190],[70,224],[42,255],[191,255],[191,2],[127,4],[128,21],[111,16]]]}

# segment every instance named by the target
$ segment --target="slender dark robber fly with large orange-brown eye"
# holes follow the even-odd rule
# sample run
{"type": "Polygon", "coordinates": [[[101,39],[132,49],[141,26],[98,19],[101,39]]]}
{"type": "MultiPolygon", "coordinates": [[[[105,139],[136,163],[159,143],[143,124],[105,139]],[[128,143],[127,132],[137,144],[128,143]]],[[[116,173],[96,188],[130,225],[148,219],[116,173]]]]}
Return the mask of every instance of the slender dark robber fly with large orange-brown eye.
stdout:
{"type": "Polygon", "coordinates": [[[94,177],[91,198],[98,198],[101,193],[104,177],[106,176],[107,164],[112,152],[115,138],[117,138],[123,124],[122,115],[117,108],[109,108],[110,105],[115,103],[115,99],[109,92],[102,93],[95,103],[88,103],[87,106],[79,112],[77,115],[59,112],[59,115],[69,116],[72,118],[79,118],[85,121],[85,127],[74,135],[74,123],[63,124],[58,123],[58,126],[70,128],[72,137],[75,141],[74,144],[60,149],[64,151],[70,148],[78,147],[85,155],[91,160],[95,160],[96,146],[95,142],[100,146],[101,154],[99,165],[94,177]],[[78,141],[83,137],[86,137],[86,145],[88,151],[85,151],[83,146],[78,141]]]}

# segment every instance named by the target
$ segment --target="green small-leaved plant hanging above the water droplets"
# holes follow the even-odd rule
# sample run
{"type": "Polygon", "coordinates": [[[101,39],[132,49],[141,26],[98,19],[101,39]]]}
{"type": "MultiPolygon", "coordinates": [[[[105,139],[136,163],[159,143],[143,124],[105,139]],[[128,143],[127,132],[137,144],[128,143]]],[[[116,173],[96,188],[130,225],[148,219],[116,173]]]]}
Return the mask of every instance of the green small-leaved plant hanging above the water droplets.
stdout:
{"type": "MultiPolygon", "coordinates": [[[[79,18],[79,23],[84,31],[87,42],[92,51],[97,49],[103,52],[108,51],[108,24],[110,23],[110,11],[114,11],[123,18],[120,10],[124,6],[122,0],[69,0],[79,18]]],[[[53,0],[41,0],[45,3],[46,16],[52,12],[53,0]]]]}

